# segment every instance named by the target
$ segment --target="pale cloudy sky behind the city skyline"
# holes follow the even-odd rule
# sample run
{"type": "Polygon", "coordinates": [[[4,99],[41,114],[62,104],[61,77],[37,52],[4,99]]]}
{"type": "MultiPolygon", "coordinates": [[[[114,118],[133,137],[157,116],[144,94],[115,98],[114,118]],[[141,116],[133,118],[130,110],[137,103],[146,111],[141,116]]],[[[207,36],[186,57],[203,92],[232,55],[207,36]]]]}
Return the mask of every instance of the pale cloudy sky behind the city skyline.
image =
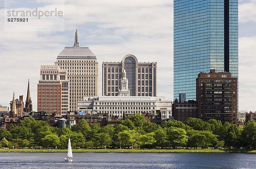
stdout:
{"type": "MultiPolygon", "coordinates": [[[[138,62],[157,62],[157,96],[173,100],[173,0],[0,0],[0,104],[26,99],[30,82],[33,110],[37,109],[40,65],[54,65],[65,46],[73,46],[76,15],[80,46],[99,62],[121,62],[133,54],[138,62]],[[57,9],[60,17],[29,17],[7,22],[6,10],[57,9]]],[[[255,111],[256,0],[239,0],[239,110],[255,111]],[[251,99],[250,99],[251,98],[251,99]]]]}

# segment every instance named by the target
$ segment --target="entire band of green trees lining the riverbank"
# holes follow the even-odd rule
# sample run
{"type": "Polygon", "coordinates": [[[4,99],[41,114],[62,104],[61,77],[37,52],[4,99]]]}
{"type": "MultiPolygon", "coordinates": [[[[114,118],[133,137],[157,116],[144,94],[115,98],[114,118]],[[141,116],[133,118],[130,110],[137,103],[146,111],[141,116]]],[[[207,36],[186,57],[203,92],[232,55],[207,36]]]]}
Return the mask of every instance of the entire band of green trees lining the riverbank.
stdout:
{"type": "Polygon", "coordinates": [[[1,147],[67,148],[68,138],[73,147],[81,148],[246,148],[256,149],[256,123],[243,127],[211,119],[207,122],[189,118],[164,121],[157,125],[135,114],[114,126],[91,126],[81,119],[79,124],[62,130],[50,127],[46,121],[30,117],[9,130],[0,129],[1,147]]]}

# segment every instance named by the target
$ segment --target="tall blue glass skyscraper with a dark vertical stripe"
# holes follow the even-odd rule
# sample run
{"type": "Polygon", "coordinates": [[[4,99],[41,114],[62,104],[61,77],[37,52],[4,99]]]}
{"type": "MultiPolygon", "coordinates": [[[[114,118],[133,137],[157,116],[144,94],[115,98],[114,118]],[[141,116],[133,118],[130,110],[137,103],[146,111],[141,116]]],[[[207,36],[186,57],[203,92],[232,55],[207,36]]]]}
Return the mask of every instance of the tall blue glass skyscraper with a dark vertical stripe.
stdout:
{"type": "Polygon", "coordinates": [[[238,77],[238,0],[174,0],[174,99],[210,69],[238,77]]]}

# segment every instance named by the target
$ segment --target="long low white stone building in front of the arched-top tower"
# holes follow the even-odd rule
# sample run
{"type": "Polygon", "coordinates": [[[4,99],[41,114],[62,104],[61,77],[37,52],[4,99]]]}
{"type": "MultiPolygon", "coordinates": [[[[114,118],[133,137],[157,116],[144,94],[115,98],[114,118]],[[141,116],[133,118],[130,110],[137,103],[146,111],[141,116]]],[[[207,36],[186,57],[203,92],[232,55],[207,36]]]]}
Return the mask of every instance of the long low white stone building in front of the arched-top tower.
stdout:
{"type": "Polygon", "coordinates": [[[110,117],[121,118],[123,114],[154,113],[161,111],[162,119],[172,116],[172,101],[165,101],[164,97],[149,96],[99,96],[84,97],[78,101],[78,111],[84,113],[108,113],[110,117]]]}

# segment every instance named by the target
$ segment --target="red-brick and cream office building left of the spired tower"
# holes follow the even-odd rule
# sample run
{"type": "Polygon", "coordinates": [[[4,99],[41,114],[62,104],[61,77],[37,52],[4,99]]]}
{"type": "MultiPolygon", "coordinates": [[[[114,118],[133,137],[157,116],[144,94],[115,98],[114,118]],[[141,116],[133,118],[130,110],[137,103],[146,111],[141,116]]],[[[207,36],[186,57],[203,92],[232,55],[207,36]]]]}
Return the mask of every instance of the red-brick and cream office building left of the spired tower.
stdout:
{"type": "Polygon", "coordinates": [[[58,65],[41,65],[38,82],[38,111],[65,115],[69,111],[67,70],[58,65]]]}

